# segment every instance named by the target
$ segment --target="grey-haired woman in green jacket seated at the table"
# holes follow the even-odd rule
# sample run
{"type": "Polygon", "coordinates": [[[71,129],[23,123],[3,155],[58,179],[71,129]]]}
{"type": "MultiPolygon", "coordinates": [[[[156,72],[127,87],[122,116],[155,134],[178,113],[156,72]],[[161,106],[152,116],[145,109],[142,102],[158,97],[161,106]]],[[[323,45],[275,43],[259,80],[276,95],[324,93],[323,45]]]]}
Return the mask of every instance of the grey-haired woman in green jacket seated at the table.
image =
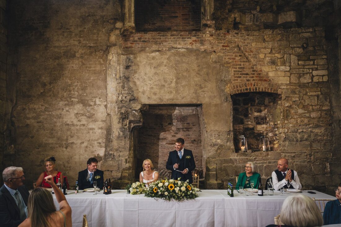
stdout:
{"type": "Polygon", "coordinates": [[[236,190],[239,190],[239,187],[252,188],[251,181],[254,182],[253,188],[258,188],[259,179],[261,178],[261,175],[254,171],[255,168],[253,162],[247,162],[244,168],[245,172],[240,173],[238,176],[236,190]]]}

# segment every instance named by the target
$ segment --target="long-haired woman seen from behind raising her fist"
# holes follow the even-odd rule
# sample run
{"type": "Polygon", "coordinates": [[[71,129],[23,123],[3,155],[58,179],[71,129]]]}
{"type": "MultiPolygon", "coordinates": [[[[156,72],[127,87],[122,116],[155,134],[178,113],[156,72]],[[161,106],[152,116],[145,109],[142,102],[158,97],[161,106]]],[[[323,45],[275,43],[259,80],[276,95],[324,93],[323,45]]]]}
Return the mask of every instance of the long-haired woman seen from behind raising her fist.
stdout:
{"type": "Polygon", "coordinates": [[[21,223],[20,227],[66,227],[72,226],[71,207],[66,201],[62,191],[53,182],[53,176],[49,175],[45,181],[51,185],[55,191],[56,199],[59,203],[59,211],[56,211],[52,195],[43,188],[33,189],[28,198],[28,218],[21,223]]]}

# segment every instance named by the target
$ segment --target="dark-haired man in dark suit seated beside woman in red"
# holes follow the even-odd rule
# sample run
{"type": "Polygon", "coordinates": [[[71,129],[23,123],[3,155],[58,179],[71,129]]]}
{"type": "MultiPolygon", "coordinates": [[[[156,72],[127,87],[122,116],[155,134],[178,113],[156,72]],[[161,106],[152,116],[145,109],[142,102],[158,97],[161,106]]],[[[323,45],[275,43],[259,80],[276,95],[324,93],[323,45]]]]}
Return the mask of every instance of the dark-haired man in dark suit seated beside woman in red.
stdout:
{"type": "Polygon", "coordinates": [[[93,188],[94,181],[97,181],[99,189],[103,189],[103,171],[97,169],[97,163],[97,159],[89,158],[87,161],[88,168],[78,172],[78,186],[80,190],[93,188]]]}

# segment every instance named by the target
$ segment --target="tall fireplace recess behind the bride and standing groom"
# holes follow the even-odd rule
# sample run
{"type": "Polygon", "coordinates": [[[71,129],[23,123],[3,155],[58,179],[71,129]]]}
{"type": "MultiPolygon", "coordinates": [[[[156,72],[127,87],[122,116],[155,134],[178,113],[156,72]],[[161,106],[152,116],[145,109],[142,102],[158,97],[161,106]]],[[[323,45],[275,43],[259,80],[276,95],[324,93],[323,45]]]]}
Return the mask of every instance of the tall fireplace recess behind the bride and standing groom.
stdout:
{"type": "Polygon", "coordinates": [[[166,162],[179,137],[185,140],[184,148],[192,150],[197,173],[203,176],[201,105],[146,105],[141,113],[143,124],[133,134],[137,137],[135,178],[139,179],[143,160],[149,158],[160,179],[169,179],[166,162]]]}

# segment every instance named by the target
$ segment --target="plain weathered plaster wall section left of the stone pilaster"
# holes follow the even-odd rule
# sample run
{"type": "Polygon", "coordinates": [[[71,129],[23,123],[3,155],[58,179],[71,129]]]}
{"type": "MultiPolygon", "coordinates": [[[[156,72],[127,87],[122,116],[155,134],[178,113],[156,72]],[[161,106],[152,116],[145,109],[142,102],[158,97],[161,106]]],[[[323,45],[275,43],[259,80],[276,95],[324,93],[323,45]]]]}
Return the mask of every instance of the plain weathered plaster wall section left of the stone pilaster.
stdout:
{"type": "Polygon", "coordinates": [[[22,166],[27,182],[51,155],[70,185],[89,157],[101,169],[108,34],[122,20],[120,8],[117,1],[8,1],[14,150],[3,163],[22,166]]]}

